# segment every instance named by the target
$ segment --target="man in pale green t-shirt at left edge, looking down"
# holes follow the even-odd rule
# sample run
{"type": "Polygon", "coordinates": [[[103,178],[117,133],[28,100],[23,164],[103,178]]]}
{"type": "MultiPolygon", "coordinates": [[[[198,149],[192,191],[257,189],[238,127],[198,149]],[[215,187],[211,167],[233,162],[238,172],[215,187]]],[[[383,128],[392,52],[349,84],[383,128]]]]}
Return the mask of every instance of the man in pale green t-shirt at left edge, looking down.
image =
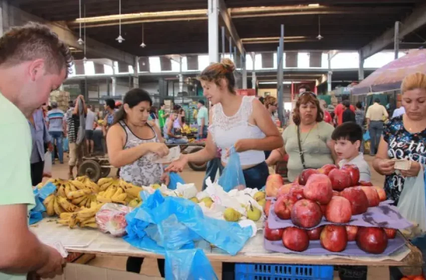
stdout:
{"type": "Polygon", "coordinates": [[[49,27],[28,23],[0,39],[0,280],[53,278],[65,260],[28,227],[35,199],[27,121],[67,77],[72,56],[49,27]]]}

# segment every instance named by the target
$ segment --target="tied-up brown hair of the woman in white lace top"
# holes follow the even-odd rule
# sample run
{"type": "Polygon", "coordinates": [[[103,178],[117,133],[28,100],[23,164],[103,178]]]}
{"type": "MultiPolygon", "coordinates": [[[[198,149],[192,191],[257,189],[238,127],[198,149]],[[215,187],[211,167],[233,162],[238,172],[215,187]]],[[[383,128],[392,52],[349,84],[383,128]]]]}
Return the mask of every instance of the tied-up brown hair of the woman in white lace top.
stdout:
{"type": "Polygon", "coordinates": [[[229,58],[224,58],[222,62],[208,65],[199,75],[199,80],[213,81],[217,85],[221,79],[225,79],[228,84],[228,90],[235,93],[235,64],[229,58]]]}

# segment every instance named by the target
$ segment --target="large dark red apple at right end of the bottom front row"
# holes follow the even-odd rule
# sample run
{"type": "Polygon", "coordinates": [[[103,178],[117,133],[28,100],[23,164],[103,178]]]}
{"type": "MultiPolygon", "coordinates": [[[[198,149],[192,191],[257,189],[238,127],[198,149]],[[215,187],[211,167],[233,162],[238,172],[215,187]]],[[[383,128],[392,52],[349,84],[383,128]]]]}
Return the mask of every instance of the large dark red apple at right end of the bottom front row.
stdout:
{"type": "Polygon", "coordinates": [[[379,254],[387,247],[387,236],[381,227],[360,227],[356,235],[356,244],[367,253],[379,254]]]}

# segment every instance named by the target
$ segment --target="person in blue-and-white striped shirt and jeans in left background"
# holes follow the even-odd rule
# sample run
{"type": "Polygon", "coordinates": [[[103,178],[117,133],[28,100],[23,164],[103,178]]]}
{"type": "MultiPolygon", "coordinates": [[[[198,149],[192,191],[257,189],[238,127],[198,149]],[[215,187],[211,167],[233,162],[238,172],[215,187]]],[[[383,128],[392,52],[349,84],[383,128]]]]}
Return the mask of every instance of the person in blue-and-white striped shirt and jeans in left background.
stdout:
{"type": "MultiPolygon", "coordinates": [[[[58,150],[59,162],[64,163],[64,143],[63,136],[65,128],[64,111],[58,108],[57,102],[51,103],[52,109],[48,111],[47,127],[49,128],[49,134],[52,138],[52,144],[56,146],[58,150]]],[[[52,152],[52,164],[55,164],[55,153],[52,152]]]]}

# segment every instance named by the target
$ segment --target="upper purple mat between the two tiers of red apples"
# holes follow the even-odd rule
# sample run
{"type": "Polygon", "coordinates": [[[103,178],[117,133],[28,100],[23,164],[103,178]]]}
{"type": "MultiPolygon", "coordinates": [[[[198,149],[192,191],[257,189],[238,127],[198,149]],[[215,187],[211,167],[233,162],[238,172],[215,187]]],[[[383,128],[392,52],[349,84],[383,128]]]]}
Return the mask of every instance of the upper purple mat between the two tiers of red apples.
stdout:
{"type": "MultiPolygon", "coordinates": [[[[291,219],[281,219],[279,218],[274,211],[274,203],[276,199],[273,199],[271,202],[271,207],[269,209],[268,216],[268,225],[269,228],[286,228],[289,226],[294,226],[291,222],[291,219]]],[[[358,226],[372,226],[372,227],[389,227],[402,229],[412,225],[407,219],[401,216],[398,212],[398,208],[393,205],[392,200],[386,200],[380,202],[380,204],[376,207],[369,207],[367,211],[363,214],[353,215],[348,225],[358,225],[358,226]]],[[[336,224],[334,222],[327,221],[325,217],[322,217],[321,222],[317,225],[325,225],[325,224],[336,224]]],[[[316,226],[316,227],[317,227],[316,226]]]]}

